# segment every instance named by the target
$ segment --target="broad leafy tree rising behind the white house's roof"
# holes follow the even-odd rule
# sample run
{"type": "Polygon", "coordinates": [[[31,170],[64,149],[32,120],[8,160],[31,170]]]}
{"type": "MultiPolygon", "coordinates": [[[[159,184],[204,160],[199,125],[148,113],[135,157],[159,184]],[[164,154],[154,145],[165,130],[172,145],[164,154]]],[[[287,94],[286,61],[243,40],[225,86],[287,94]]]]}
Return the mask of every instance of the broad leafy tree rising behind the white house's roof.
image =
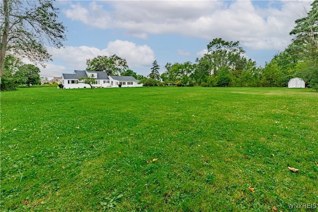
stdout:
{"type": "Polygon", "coordinates": [[[126,59],[117,55],[97,56],[86,60],[87,71],[106,71],[108,75],[120,75],[128,69],[126,59]]]}

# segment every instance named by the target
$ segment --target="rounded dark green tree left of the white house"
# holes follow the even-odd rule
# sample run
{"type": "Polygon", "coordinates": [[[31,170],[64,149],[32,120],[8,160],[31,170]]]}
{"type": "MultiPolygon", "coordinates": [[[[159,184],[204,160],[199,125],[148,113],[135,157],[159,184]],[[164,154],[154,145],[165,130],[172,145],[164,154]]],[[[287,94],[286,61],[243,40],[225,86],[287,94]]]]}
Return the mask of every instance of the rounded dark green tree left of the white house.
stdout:
{"type": "Polygon", "coordinates": [[[22,65],[18,71],[15,72],[16,76],[19,76],[19,84],[40,85],[40,69],[32,64],[22,65]]]}

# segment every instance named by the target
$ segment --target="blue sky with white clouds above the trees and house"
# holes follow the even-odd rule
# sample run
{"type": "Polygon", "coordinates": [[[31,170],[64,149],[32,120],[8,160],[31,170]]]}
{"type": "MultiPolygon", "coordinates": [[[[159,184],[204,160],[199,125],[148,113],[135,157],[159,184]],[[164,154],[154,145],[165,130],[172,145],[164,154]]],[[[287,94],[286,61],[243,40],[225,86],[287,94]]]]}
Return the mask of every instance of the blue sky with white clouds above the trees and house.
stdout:
{"type": "Polygon", "coordinates": [[[68,28],[64,48],[41,69],[52,78],[85,70],[86,59],[116,54],[131,70],[147,76],[157,60],[195,63],[214,38],[239,41],[245,57],[264,66],[292,37],[307,0],[58,0],[59,20],[68,28]]]}

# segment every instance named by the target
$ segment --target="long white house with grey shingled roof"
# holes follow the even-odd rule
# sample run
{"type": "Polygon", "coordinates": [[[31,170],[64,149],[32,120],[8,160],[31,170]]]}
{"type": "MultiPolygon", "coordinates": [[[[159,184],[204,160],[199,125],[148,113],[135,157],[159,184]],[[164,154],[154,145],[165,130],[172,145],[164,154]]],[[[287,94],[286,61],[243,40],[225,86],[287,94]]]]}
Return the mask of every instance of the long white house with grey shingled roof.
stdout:
{"type": "Polygon", "coordinates": [[[74,73],[63,73],[62,84],[64,88],[88,88],[89,84],[79,81],[80,77],[92,76],[95,78],[93,87],[142,87],[139,80],[133,76],[112,76],[105,71],[74,71],[74,73]]]}

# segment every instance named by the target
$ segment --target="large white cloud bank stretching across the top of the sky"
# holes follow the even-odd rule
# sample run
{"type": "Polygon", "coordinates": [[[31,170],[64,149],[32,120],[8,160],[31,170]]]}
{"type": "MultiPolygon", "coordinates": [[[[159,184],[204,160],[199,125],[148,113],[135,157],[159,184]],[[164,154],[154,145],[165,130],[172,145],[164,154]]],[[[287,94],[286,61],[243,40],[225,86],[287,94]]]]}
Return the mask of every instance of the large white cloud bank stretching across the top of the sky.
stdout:
{"type": "Polygon", "coordinates": [[[72,20],[100,29],[120,28],[147,39],[149,34],[181,34],[211,41],[240,41],[249,49],[283,50],[294,21],[311,1],[269,2],[266,8],[238,1],[92,1],[70,4],[63,12],[72,20]]]}

